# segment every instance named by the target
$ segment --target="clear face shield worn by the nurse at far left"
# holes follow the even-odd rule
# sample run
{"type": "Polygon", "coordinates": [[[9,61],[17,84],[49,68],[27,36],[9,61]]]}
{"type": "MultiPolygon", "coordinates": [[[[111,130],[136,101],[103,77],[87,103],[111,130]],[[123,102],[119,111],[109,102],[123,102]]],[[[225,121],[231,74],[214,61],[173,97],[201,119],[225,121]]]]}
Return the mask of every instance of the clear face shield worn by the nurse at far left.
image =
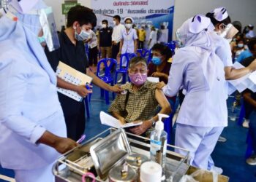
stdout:
{"type": "Polygon", "coordinates": [[[48,50],[51,52],[59,49],[59,36],[53,16],[53,9],[51,7],[40,9],[39,20],[48,50]]]}

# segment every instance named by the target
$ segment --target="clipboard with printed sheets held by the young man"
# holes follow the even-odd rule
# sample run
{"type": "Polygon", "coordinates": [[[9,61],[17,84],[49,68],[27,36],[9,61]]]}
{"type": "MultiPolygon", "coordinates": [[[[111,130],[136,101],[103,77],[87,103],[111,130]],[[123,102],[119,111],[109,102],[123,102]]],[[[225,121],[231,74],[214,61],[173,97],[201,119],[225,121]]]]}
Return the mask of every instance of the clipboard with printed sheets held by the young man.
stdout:
{"type": "MultiPolygon", "coordinates": [[[[91,76],[83,74],[80,71],[77,71],[74,68],[68,66],[67,64],[62,63],[61,61],[59,61],[59,65],[56,70],[56,76],[71,84],[83,85],[84,87],[86,87],[86,84],[91,84],[92,81],[91,76]]],[[[83,100],[83,97],[72,90],[67,90],[60,87],[57,87],[57,90],[58,92],[66,95],[69,98],[77,100],[78,102],[83,100]]]]}

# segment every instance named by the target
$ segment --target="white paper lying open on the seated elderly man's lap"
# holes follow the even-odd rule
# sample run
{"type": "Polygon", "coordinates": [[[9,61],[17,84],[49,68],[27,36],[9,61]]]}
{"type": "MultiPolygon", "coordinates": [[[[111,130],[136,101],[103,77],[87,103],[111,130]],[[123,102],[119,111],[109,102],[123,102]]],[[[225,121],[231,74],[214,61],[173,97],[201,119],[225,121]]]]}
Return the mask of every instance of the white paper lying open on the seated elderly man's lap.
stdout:
{"type": "Polygon", "coordinates": [[[129,122],[127,124],[121,124],[121,122],[118,119],[114,118],[113,116],[110,116],[109,114],[103,111],[100,111],[99,118],[102,124],[108,125],[110,127],[116,127],[116,128],[134,127],[142,124],[142,122],[138,122],[138,123],[129,122]]]}

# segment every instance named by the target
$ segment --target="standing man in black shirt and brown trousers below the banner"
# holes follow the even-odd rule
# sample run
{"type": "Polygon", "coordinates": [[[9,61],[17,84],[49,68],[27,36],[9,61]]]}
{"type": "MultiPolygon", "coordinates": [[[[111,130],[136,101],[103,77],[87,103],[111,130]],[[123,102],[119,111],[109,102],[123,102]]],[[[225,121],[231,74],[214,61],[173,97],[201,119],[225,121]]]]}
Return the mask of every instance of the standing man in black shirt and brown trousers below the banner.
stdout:
{"type": "Polygon", "coordinates": [[[102,20],[102,29],[99,30],[99,49],[102,58],[111,58],[113,28],[108,27],[108,20],[102,20]]]}

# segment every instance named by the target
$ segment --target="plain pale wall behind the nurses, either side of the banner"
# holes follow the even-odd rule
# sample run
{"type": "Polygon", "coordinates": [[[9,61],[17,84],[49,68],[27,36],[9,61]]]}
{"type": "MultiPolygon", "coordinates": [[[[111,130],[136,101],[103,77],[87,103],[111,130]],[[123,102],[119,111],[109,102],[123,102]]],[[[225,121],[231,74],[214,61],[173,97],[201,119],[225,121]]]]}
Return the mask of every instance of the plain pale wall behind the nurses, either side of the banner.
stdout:
{"type": "MultiPolygon", "coordinates": [[[[61,14],[61,4],[64,0],[45,0],[45,3],[53,7],[57,28],[60,30],[61,25],[66,24],[65,17],[61,14]]],[[[91,0],[78,0],[78,3],[91,7],[91,0]]],[[[215,7],[226,7],[232,21],[238,20],[243,26],[252,24],[256,27],[256,0],[176,0],[173,32],[189,17],[196,14],[205,15],[215,7]]]]}

